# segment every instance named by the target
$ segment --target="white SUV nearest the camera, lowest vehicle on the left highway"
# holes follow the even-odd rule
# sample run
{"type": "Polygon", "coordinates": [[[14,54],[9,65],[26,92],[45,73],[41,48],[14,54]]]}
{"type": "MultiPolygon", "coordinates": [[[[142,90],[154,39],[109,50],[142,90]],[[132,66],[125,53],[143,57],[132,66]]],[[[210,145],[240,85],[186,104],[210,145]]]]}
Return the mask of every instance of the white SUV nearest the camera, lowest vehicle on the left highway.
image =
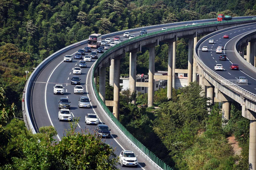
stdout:
{"type": "Polygon", "coordinates": [[[136,156],[136,154],[130,150],[122,150],[120,155],[119,155],[119,159],[118,159],[118,163],[121,164],[121,166],[138,166],[138,156],[136,156]]]}

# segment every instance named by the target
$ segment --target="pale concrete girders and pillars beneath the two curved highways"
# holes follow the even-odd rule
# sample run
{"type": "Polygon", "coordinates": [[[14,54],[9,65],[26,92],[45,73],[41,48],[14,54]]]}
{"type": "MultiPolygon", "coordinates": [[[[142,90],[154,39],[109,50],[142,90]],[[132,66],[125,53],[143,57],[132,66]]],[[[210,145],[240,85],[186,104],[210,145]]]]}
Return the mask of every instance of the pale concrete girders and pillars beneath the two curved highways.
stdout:
{"type": "MultiPolygon", "coordinates": [[[[136,91],[136,87],[148,87],[148,107],[153,106],[154,102],[154,80],[168,80],[167,97],[172,98],[172,87],[175,84],[176,69],[176,41],[177,38],[188,38],[188,85],[190,82],[197,80],[199,74],[199,84],[207,97],[211,98],[210,103],[223,102],[222,114],[225,119],[230,119],[230,101],[236,101],[242,106],[242,115],[250,119],[250,153],[249,163],[251,167],[256,168],[256,95],[239,86],[225,86],[221,80],[226,80],[210,70],[198,57],[196,49],[200,43],[210,37],[206,35],[198,41],[198,35],[216,31],[216,29],[226,29],[230,27],[240,27],[243,24],[252,24],[256,20],[232,21],[224,23],[205,23],[192,25],[191,27],[177,27],[176,29],[167,29],[135,37],[116,45],[109,49],[106,54],[102,55],[94,65],[93,77],[96,84],[96,78],[99,78],[99,96],[98,100],[102,100],[106,106],[113,106],[113,113],[119,119],[119,94],[120,94],[120,59],[125,53],[130,53],[130,72],[129,72],[129,88],[131,92],[136,91]],[[168,42],[168,75],[158,76],[155,72],[155,47],[159,42],[168,42]],[[136,53],[141,51],[142,47],[149,48],[149,73],[148,82],[136,82],[136,53]],[[110,85],[114,86],[114,100],[105,100],[106,86],[106,67],[110,67],[110,85]],[[214,95],[215,94],[215,95],[214,95]]],[[[241,62],[246,62],[244,56],[244,48],[247,46],[247,61],[250,69],[256,72],[256,33],[250,33],[242,37],[234,47],[241,62]],[[237,51],[242,52],[242,57],[237,51]],[[250,64],[249,64],[250,63],[250,64]]],[[[96,89],[94,89],[96,92],[96,89]]],[[[97,92],[96,92],[97,93],[97,92]]],[[[133,101],[136,104],[136,101],[133,101]]]]}

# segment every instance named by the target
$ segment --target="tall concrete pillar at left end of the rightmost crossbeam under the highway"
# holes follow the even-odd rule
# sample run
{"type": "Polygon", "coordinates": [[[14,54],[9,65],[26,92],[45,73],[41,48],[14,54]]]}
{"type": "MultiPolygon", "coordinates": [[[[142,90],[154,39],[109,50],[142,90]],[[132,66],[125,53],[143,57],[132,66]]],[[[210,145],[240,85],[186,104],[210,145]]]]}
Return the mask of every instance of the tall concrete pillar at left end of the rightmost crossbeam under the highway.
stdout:
{"type": "Polygon", "coordinates": [[[172,60],[173,60],[173,42],[169,43],[168,48],[168,80],[167,80],[167,98],[172,98],[172,60]]]}

